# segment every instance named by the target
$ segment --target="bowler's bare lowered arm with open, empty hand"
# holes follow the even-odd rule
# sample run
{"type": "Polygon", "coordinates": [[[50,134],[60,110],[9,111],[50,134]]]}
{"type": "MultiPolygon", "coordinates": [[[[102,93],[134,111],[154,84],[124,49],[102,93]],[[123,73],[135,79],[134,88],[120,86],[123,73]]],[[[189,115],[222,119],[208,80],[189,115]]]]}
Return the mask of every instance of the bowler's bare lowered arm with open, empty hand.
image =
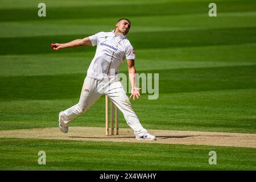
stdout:
{"type": "Polygon", "coordinates": [[[134,67],[134,59],[127,59],[127,66],[128,66],[128,72],[129,72],[129,80],[131,82],[131,97],[133,97],[133,100],[135,100],[135,96],[139,99],[139,90],[141,88],[136,87],[136,69],[134,67]]]}

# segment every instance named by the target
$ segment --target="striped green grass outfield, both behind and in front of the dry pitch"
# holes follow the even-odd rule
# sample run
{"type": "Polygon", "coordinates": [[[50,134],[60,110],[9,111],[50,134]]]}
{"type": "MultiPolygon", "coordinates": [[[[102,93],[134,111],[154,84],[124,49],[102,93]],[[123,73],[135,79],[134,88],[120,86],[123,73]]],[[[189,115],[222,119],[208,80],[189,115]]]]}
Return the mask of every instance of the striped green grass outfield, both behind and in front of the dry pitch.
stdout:
{"type": "MultiPolygon", "coordinates": [[[[131,20],[138,73],[159,73],[159,98],[131,101],[147,129],[256,133],[256,2],[0,0],[0,132],[57,127],[75,105],[96,47],[52,51],[131,20]]],[[[126,62],[120,72],[127,74],[126,62]]],[[[71,126],[105,126],[101,97],[71,126]]],[[[119,127],[128,128],[123,117],[119,127]]],[[[255,170],[256,149],[0,138],[0,170],[255,170]],[[38,151],[47,165],[37,163],[38,151]],[[208,152],[217,152],[217,165],[208,152]],[[113,154],[113,156],[110,156],[113,154]],[[104,164],[102,164],[104,163],[104,164]]]]}

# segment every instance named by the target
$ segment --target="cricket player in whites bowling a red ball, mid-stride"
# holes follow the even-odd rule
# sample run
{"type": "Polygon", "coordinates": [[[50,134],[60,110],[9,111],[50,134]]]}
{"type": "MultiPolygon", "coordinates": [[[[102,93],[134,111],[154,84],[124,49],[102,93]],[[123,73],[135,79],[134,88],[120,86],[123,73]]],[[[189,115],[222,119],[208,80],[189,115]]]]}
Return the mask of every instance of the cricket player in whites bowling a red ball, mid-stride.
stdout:
{"type": "Polygon", "coordinates": [[[126,38],[131,22],[122,18],[118,20],[115,26],[115,30],[110,32],[99,32],[84,39],[76,39],[64,44],[51,44],[53,50],[77,46],[97,46],[96,54],[87,70],[79,102],[59,113],[60,130],[63,133],[68,133],[69,122],[78,115],[85,113],[98,98],[105,94],[123,113],[127,124],[133,129],[136,139],[156,140],[156,137],[148,133],[141,125],[118,78],[118,67],[126,59],[132,86],[130,98],[133,97],[135,100],[135,97],[140,97],[140,88],[135,85],[135,52],[126,38]]]}

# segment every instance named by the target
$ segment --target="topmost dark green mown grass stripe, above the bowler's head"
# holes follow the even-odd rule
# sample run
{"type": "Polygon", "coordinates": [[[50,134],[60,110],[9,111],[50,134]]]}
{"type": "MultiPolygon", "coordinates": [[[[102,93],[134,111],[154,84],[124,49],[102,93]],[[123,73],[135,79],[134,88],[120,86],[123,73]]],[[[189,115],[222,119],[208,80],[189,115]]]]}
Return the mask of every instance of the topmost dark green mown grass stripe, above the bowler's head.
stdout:
{"type": "MultiPolygon", "coordinates": [[[[232,1],[218,2],[218,9],[221,12],[243,12],[254,11],[255,1],[232,1]],[[237,8],[239,7],[239,9],[237,8]]],[[[47,18],[51,19],[76,19],[76,18],[105,18],[108,17],[138,17],[146,15],[181,15],[208,13],[210,2],[166,2],[166,3],[144,3],[139,5],[96,5],[77,7],[51,7],[47,8],[47,18]]],[[[43,20],[38,17],[38,4],[34,8],[27,9],[1,9],[0,21],[10,22],[17,20],[43,20]],[[8,15],[8,16],[6,16],[8,15]]],[[[46,18],[44,18],[46,20],[46,18]]]]}

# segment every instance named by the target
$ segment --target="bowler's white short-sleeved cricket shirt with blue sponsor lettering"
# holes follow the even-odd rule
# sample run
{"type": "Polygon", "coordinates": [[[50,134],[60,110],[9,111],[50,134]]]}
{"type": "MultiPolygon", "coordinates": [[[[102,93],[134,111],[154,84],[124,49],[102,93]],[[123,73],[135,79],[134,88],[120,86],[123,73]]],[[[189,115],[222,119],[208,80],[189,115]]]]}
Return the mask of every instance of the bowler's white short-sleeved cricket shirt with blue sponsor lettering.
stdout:
{"type": "Polygon", "coordinates": [[[134,48],[123,34],[99,32],[89,36],[92,46],[97,45],[95,56],[87,70],[87,76],[102,79],[117,76],[124,59],[135,59],[134,48]]]}

